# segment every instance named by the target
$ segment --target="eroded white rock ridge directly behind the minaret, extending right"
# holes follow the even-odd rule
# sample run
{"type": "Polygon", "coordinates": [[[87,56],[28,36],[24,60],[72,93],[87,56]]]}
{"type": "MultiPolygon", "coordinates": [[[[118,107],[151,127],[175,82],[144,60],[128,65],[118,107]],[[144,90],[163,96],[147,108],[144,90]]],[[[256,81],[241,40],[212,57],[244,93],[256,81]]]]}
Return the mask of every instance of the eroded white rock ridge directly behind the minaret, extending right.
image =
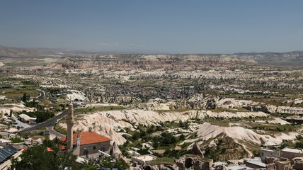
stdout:
{"type": "MultiPolygon", "coordinates": [[[[216,113],[212,111],[185,111],[185,112],[164,112],[158,113],[156,111],[142,111],[142,110],[127,110],[127,111],[101,111],[89,115],[78,115],[80,120],[76,120],[74,130],[88,131],[91,130],[105,137],[110,137],[118,145],[123,144],[126,140],[122,135],[116,131],[130,128],[133,125],[157,125],[160,122],[166,121],[187,121],[191,118],[203,119],[207,117],[219,118],[248,118],[249,116],[265,117],[267,114],[262,112],[221,112],[216,113]],[[128,123],[130,122],[130,123],[128,123]],[[116,131],[115,131],[116,130],[116,131]]],[[[65,123],[59,123],[62,128],[67,128],[65,123]]],[[[200,128],[200,125],[190,125],[188,130],[193,132],[200,128]]],[[[173,132],[173,131],[172,131],[173,132]]],[[[186,131],[188,132],[188,131],[186,131]]]]}

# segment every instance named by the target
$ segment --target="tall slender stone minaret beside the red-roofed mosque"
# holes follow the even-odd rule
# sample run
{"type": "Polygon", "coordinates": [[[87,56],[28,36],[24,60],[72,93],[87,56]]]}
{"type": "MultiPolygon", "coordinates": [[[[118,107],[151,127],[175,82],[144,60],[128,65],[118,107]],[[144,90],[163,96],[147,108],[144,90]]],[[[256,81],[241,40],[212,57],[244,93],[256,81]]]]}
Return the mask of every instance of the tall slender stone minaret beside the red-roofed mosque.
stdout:
{"type": "Polygon", "coordinates": [[[73,148],[73,125],[74,125],[74,106],[69,103],[69,109],[67,110],[67,147],[73,148]]]}

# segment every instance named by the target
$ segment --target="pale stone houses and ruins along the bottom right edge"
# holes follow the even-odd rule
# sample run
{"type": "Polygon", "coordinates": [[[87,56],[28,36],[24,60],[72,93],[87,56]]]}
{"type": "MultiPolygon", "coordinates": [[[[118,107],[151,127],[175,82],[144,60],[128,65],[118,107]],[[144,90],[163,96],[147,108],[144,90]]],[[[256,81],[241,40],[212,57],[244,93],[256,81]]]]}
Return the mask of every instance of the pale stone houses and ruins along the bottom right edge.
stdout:
{"type": "Polygon", "coordinates": [[[132,157],[132,162],[135,169],[144,170],[303,170],[303,149],[261,149],[260,154],[261,157],[251,159],[213,162],[212,159],[205,159],[195,144],[191,154],[185,154],[171,163],[154,164],[157,158],[151,154],[132,157]]]}

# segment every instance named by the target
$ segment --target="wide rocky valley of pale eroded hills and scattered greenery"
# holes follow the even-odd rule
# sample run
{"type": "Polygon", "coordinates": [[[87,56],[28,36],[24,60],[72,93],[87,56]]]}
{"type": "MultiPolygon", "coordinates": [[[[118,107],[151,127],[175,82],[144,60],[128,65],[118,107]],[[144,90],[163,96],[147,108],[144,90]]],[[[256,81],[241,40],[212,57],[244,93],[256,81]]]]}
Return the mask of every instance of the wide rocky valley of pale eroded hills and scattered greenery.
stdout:
{"type": "Polygon", "coordinates": [[[40,61],[26,67],[3,60],[4,132],[35,141],[65,136],[67,118],[58,116],[72,101],[74,132],[110,138],[125,159],[147,152],[178,159],[197,145],[205,157],[227,162],[302,143],[303,70],[266,65],[271,55],[75,53],[42,57],[43,66],[37,57],[24,57],[40,61]],[[14,124],[22,115],[54,123],[23,133],[35,125],[14,124]]]}

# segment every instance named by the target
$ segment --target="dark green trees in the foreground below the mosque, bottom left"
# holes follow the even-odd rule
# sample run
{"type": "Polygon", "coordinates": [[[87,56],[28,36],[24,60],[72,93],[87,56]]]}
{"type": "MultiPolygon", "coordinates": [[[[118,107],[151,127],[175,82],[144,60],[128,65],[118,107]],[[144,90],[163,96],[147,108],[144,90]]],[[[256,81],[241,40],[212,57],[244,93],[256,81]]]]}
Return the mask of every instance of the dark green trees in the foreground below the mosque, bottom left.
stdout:
{"type": "Polygon", "coordinates": [[[25,150],[20,158],[13,159],[12,167],[20,170],[98,170],[101,168],[118,167],[126,170],[130,166],[123,159],[111,159],[110,157],[101,157],[100,162],[89,160],[88,162],[76,162],[76,155],[59,147],[59,140],[44,140],[42,145],[33,145],[25,150]]]}

